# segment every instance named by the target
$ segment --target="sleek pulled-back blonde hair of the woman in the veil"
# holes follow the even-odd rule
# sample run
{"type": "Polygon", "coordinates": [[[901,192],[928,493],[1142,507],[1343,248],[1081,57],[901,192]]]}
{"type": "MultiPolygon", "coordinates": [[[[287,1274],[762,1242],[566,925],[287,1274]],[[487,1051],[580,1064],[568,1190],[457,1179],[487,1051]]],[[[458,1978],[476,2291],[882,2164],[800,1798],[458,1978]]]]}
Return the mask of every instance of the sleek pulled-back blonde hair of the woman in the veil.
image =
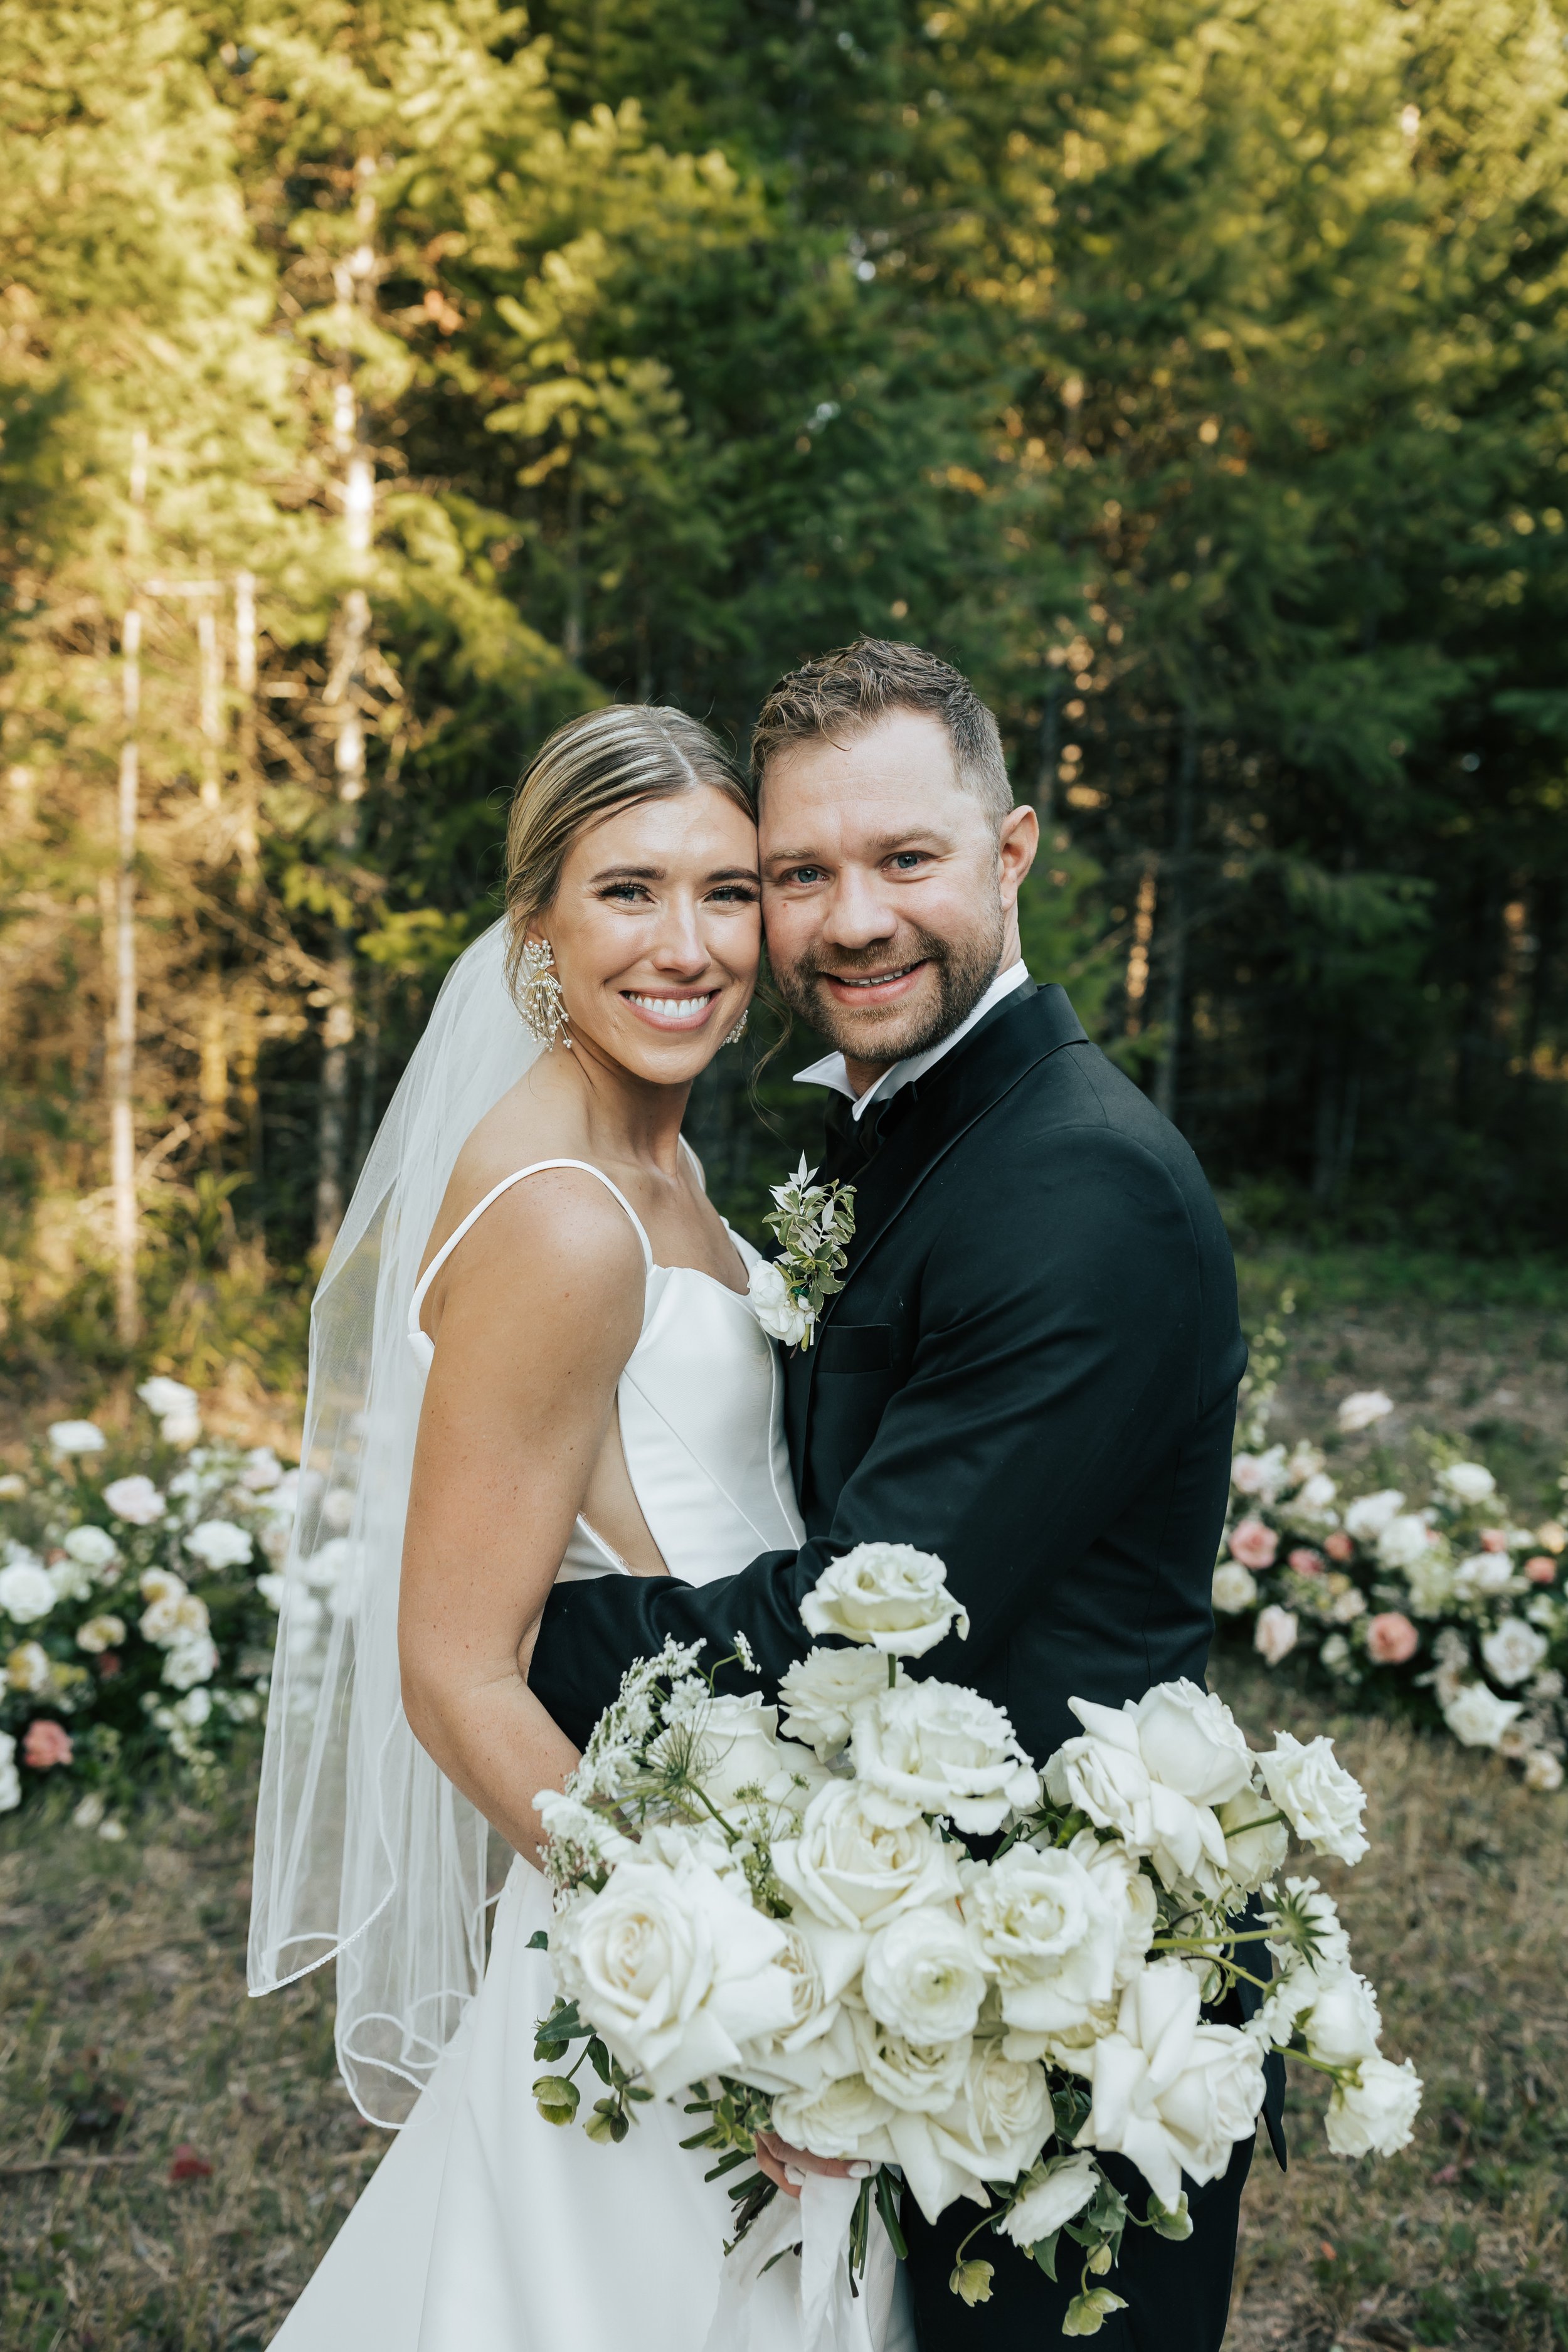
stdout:
{"type": "Polygon", "coordinates": [[[607,703],[567,720],[512,795],[505,821],[505,981],[517,990],[522,943],[555,898],[578,833],[637,800],[670,800],[708,783],[757,821],[757,795],[701,720],[663,703],[607,703]]]}

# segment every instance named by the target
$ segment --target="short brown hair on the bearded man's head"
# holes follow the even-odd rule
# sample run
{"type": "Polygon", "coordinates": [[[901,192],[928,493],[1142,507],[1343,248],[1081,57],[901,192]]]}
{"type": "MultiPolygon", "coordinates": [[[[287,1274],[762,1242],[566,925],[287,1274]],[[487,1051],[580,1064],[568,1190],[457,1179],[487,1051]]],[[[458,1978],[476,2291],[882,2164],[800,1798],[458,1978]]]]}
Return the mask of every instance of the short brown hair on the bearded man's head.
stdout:
{"type": "Polygon", "coordinates": [[[875,727],[891,710],[924,710],[938,720],[952,743],[959,783],[999,826],[1013,807],[1013,786],[997,720],[950,661],[891,637],[839,644],[780,677],[757,715],[752,776],[762,783],[769,760],[795,743],[835,743],[875,727]]]}

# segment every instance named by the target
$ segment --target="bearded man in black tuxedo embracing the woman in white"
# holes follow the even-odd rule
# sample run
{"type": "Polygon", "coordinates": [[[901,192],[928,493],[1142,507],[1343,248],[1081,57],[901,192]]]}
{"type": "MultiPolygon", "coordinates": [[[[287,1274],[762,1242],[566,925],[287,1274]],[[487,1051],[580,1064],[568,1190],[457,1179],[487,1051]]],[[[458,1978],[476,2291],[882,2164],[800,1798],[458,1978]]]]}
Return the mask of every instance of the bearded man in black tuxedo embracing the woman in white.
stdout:
{"type": "MultiPolygon", "coordinates": [[[[1225,1228],[1175,1129],[1030,981],[1039,823],[957,670],[877,640],[825,654],[764,703],[752,764],[769,957],[837,1047],[802,1080],[827,1089],[823,1174],[856,1185],[844,1289],[785,1374],[806,1543],[701,1588],[557,1585],[529,1684],[578,1743],[665,1635],[741,1628],[776,1684],[827,1562],[914,1543],[971,1621],[938,1670],[1044,1757],[1079,1731],[1070,1696],[1204,1679],[1246,1362],[1225,1228]]],[[[1128,2227],[1107,2352],[1215,2352],[1248,2164],[1251,2143],[1190,2192],[1190,2239],[1128,2227]]],[[[990,2303],[947,2291],[971,2220],[905,2199],[922,2352],[1056,2340],[1070,2263],[1053,2286],[997,2239],[990,2303]]]]}

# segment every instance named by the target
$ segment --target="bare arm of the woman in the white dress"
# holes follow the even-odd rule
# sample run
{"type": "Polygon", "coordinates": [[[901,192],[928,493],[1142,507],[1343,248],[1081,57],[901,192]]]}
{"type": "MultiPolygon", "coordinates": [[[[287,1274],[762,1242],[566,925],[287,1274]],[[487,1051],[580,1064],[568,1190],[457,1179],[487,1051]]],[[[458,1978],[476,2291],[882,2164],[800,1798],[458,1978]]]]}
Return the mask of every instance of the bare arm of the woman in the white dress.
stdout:
{"type": "Polygon", "coordinates": [[[576,1750],[520,1672],[642,1329],[642,1249],[571,1171],[505,1192],[454,1251],[414,1451],[397,1653],[416,1740],[520,1851],[576,1750]]]}

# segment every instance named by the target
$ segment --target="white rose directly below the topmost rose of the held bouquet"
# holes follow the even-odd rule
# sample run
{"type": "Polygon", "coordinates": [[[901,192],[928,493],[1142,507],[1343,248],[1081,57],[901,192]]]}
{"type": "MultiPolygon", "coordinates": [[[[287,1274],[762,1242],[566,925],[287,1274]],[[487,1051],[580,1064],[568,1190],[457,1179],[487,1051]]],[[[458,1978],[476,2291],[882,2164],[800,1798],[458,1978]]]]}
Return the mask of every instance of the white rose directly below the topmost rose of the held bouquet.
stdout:
{"type": "Polygon", "coordinates": [[[943,1813],[990,1837],[1039,1804],[1039,1773],[1001,1708],[952,1682],[910,1682],[860,1708],[851,1755],[865,1809],[884,1820],[943,1813]]]}

